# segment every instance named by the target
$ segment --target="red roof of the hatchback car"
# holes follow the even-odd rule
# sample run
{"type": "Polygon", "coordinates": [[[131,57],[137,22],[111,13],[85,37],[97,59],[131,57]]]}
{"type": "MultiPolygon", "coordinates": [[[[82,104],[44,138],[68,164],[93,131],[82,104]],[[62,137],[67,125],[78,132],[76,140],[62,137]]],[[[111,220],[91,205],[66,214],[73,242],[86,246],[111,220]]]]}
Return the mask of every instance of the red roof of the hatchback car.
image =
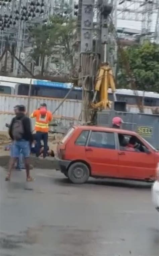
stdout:
{"type": "Polygon", "coordinates": [[[74,126],[81,130],[93,130],[93,131],[104,131],[104,132],[116,132],[116,133],[123,133],[123,134],[130,134],[130,135],[138,135],[136,132],[129,131],[129,130],[122,130],[122,129],[115,129],[115,128],[109,128],[109,127],[103,127],[103,126],[74,126]]]}

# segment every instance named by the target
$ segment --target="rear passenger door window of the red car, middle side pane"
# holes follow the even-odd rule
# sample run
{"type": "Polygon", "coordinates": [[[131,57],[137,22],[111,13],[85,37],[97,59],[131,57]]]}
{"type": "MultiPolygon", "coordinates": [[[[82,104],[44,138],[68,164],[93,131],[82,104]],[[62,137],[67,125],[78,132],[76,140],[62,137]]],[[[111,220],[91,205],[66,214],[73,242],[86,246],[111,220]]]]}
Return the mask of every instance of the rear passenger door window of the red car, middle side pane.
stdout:
{"type": "Polygon", "coordinates": [[[88,146],[103,149],[115,149],[114,133],[92,131],[88,146]]]}

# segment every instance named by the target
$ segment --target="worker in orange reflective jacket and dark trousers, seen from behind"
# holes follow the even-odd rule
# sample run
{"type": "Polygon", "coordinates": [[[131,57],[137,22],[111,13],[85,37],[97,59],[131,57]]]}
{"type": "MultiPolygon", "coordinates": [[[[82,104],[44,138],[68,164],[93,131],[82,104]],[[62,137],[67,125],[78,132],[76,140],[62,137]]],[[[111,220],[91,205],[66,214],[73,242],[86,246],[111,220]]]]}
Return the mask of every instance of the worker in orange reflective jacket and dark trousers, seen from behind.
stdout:
{"type": "Polygon", "coordinates": [[[31,118],[36,118],[35,130],[36,130],[36,142],[37,142],[37,152],[36,156],[40,156],[41,140],[44,142],[43,158],[47,156],[48,148],[48,131],[49,122],[52,121],[52,114],[47,110],[47,105],[45,103],[41,104],[40,108],[36,109],[31,118]]]}

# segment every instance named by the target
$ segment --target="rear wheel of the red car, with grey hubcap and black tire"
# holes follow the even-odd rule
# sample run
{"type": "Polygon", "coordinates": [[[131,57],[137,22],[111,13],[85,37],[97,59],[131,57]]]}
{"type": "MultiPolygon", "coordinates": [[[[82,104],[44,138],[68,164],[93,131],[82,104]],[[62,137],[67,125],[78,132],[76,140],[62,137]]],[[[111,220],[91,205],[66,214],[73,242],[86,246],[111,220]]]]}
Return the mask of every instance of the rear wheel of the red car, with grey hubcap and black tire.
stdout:
{"type": "Polygon", "coordinates": [[[88,181],[90,171],[86,164],[76,162],[70,165],[68,169],[68,178],[72,183],[83,184],[88,181]]]}

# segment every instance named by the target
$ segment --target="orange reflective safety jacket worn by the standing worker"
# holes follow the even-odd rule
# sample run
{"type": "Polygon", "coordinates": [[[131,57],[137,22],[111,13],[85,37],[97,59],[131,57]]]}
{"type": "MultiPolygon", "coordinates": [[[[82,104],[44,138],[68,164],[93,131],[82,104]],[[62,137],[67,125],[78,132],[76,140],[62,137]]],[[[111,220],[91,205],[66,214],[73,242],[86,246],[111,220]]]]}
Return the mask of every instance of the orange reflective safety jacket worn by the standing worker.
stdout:
{"type": "Polygon", "coordinates": [[[41,116],[40,110],[36,109],[31,118],[36,118],[35,122],[35,130],[38,132],[48,132],[49,131],[49,122],[52,121],[52,114],[50,111],[47,110],[45,116],[41,116]]]}

